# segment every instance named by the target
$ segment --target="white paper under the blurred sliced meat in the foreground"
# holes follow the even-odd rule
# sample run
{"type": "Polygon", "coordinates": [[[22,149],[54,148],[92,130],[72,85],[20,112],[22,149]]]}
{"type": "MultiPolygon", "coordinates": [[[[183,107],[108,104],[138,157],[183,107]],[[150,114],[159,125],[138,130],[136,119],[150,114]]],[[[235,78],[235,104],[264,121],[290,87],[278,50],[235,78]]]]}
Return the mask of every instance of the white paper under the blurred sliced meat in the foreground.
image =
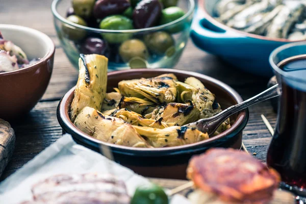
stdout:
{"type": "MultiPolygon", "coordinates": [[[[62,173],[110,173],[125,182],[130,196],[137,186],[148,184],[149,180],[82,145],[76,144],[68,134],[43,150],[33,160],[9,176],[0,184],[0,203],[17,204],[31,200],[31,187],[46,177],[62,173]]],[[[171,204],[189,203],[180,195],[171,199],[171,204]]],[[[145,203],[144,203],[145,204],[145,203]]]]}

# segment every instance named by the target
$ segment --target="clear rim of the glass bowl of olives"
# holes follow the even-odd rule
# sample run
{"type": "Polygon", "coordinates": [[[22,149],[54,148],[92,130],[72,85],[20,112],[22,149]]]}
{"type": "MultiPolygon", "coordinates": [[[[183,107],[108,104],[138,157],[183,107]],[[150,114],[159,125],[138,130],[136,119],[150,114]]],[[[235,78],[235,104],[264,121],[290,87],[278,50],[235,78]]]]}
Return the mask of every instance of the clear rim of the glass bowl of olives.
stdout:
{"type": "Polygon", "coordinates": [[[51,10],[52,10],[52,13],[53,15],[59,19],[61,22],[63,23],[66,23],[66,24],[69,24],[69,25],[72,25],[73,27],[76,27],[76,28],[79,28],[79,29],[84,29],[84,30],[87,30],[87,31],[92,31],[92,32],[107,32],[107,33],[136,33],[136,32],[146,32],[146,31],[156,31],[156,30],[161,30],[161,29],[164,29],[170,25],[173,25],[173,24],[176,24],[176,23],[179,23],[181,22],[182,20],[188,18],[190,15],[192,15],[193,11],[194,11],[194,8],[195,8],[195,2],[194,0],[186,0],[189,2],[190,4],[190,8],[188,10],[188,12],[182,16],[181,18],[178,18],[172,22],[169,22],[169,23],[166,23],[166,24],[163,24],[163,25],[158,25],[158,26],[155,26],[155,27],[150,27],[150,28],[145,28],[145,29],[133,29],[133,30],[105,30],[105,29],[95,29],[95,28],[90,28],[90,27],[86,27],[86,26],[83,26],[83,25],[79,25],[79,24],[76,24],[76,23],[73,23],[73,22],[70,22],[68,20],[66,20],[63,16],[61,16],[58,12],[57,12],[57,4],[62,1],[62,0],[54,0],[52,2],[52,5],[51,5],[51,10]]]}

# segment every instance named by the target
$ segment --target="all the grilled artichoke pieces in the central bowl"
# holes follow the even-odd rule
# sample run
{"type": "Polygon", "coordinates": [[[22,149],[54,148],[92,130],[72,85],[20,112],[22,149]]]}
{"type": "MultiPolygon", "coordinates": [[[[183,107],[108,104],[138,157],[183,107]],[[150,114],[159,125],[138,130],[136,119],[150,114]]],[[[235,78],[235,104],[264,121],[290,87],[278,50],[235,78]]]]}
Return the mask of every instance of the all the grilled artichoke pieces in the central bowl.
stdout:
{"type": "MultiPolygon", "coordinates": [[[[222,111],[216,96],[193,77],[185,83],[174,74],[126,80],[106,93],[107,58],[81,55],[79,66],[70,119],[100,141],[146,148],[191,144],[209,136],[183,125],[222,111]]],[[[226,120],[216,134],[230,127],[226,120]]]]}

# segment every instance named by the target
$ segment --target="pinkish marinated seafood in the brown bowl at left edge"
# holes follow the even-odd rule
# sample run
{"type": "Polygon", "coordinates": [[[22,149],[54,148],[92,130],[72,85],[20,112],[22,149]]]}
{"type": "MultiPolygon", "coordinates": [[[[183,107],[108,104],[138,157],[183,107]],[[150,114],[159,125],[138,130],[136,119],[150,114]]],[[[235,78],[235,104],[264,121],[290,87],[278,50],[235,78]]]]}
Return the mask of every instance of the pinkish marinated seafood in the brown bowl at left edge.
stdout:
{"type": "Polygon", "coordinates": [[[12,41],[5,40],[0,32],[0,72],[14,71],[36,63],[29,61],[23,50],[12,41]]]}

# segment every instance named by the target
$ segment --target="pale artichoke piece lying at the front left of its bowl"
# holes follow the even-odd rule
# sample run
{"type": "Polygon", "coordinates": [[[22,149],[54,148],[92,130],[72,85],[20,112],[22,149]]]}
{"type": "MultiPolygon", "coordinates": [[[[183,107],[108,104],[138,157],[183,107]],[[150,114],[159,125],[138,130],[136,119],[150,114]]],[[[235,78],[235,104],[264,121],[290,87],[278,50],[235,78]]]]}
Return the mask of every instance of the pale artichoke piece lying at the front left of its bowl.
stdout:
{"type": "Polygon", "coordinates": [[[103,142],[131,147],[151,147],[131,124],[120,118],[103,115],[90,107],[82,109],[75,118],[74,125],[103,142]]]}

